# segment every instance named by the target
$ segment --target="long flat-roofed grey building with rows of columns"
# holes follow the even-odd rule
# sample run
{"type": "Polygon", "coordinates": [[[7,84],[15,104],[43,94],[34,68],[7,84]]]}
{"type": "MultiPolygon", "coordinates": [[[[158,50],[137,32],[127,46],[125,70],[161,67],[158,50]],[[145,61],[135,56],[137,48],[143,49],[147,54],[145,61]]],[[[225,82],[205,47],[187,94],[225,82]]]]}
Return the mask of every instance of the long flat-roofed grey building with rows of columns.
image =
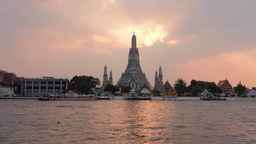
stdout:
{"type": "Polygon", "coordinates": [[[20,78],[23,96],[38,96],[40,93],[64,94],[68,90],[67,78],[20,78]],[[39,93],[40,92],[40,93],[39,93]]]}

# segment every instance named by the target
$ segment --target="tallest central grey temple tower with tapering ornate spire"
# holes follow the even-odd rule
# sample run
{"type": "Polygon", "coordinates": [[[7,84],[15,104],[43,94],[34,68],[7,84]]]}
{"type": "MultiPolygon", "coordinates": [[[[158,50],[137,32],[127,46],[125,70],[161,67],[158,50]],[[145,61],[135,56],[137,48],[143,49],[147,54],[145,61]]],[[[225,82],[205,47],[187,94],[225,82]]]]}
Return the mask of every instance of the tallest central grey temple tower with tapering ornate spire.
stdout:
{"type": "Polygon", "coordinates": [[[128,64],[116,86],[120,84],[122,86],[130,86],[136,91],[140,90],[144,84],[146,84],[150,90],[153,89],[146,78],[146,74],[142,72],[140,67],[140,54],[139,49],[136,48],[136,36],[134,32],[132,36],[132,48],[130,48],[128,55],[128,64]]]}

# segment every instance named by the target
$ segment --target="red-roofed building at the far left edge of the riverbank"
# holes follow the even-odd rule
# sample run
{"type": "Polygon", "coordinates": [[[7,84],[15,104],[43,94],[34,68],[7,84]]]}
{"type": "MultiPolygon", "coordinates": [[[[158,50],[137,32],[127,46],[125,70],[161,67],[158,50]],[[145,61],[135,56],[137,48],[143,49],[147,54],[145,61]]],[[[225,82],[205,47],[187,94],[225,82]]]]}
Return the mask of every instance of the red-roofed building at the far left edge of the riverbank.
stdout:
{"type": "Polygon", "coordinates": [[[0,70],[0,96],[14,94],[14,82],[20,83],[16,74],[0,70]]]}

